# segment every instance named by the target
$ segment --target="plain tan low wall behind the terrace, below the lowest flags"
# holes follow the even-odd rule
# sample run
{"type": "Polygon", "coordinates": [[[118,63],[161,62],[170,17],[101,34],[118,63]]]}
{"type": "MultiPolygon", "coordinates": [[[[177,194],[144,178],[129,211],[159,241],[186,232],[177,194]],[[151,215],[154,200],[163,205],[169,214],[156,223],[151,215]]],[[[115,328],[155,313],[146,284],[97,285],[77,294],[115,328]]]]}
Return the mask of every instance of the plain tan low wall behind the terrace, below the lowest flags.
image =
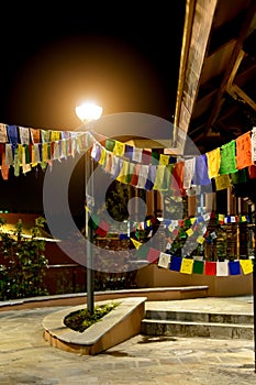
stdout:
{"type": "Polygon", "coordinates": [[[204,274],[183,274],[149,264],[137,270],[136,285],[142,287],[209,287],[208,296],[226,297],[253,294],[253,273],[247,275],[230,275],[219,277],[204,274]]]}

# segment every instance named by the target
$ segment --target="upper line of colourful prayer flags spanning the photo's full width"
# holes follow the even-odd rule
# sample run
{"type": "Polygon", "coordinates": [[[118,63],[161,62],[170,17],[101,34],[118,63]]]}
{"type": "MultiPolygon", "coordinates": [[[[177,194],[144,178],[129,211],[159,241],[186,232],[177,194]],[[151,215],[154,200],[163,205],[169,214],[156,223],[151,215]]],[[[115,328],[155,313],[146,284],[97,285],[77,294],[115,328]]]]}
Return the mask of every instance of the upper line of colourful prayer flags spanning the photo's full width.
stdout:
{"type": "Polygon", "coordinates": [[[165,152],[162,154],[154,150],[136,148],[102,135],[98,142],[97,135],[91,132],[37,130],[3,123],[0,123],[0,143],[4,144],[4,165],[13,166],[15,176],[20,175],[19,167],[22,167],[23,173],[37,164],[45,169],[47,165],[52,167],[53,160],[60,162],[67,156],[74,157],[90,146],[92,158],[114,179],[146,190],[170,189],[174,195],[183,196],[191,195],[192,189],[193,194],[199,195],[207,193],[202,187],[211,186],[212,182],[216,190],[220,190],[231,187],[232,184],[245,182],[245,177],[256,177],[256,128],[221,147],[189,160],[167,155],[165,152]],[[18,157],[14,161],[19,145],[24,146],[23,152],[16,151],[16,156],[18,153],[19,156],[22,153],[20,164],[18,157]],[[10,156],[10,147],[13,160],[10,156]],[[123,164],[123,158],[127,164],[123,164]],[[136,175],[136,183],[131,183],[131,169],[134,170],[130,167],[132,164],[142,166],[136,175]],[[236,174],[240,170],[243,173],[236,174]],[[122,175],[119,176],[120,172],[122,175]],[[126,177],[126,174],[130,174],[130,177],[126,177]],[[229,175],[230,179],[227,176],[220,177],[223,175],[229,175]]]}

